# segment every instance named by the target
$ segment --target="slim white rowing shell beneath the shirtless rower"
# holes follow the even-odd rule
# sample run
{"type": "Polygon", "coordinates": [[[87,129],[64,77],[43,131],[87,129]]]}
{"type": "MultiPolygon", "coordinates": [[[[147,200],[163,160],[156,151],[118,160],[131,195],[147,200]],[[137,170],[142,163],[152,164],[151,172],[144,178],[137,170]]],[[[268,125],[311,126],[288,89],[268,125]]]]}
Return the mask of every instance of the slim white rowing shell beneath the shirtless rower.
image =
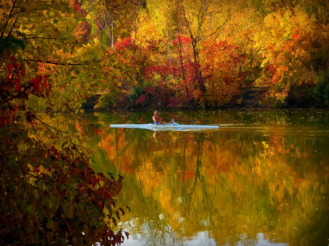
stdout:
{"type": "Polygon", "coordinates": [[[169,124],[110,124],[109,127],[117,128],[141,128],[150,130],[203,130],[203,129],[218,129],[217,125],[180,125],[178,123],[169,124]]]}

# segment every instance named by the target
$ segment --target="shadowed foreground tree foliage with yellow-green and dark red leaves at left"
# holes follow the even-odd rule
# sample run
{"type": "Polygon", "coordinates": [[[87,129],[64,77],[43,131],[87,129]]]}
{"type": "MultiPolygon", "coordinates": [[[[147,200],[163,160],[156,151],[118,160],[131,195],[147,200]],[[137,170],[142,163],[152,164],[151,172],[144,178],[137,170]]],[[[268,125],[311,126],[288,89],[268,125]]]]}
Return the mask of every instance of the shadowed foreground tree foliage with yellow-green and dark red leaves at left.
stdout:
{"type": "Polygon", "coordinates": [[[79,112],[86,96],[113,86],[128,67],[118,52],[79,39],[83,16],[69,2],[2,4],[0,243],[121,244],[124,231],[114,228],[129,209],[115,199],[122,178],[96,174],[83,135],[55,129],[38,114],[79,112]]]}

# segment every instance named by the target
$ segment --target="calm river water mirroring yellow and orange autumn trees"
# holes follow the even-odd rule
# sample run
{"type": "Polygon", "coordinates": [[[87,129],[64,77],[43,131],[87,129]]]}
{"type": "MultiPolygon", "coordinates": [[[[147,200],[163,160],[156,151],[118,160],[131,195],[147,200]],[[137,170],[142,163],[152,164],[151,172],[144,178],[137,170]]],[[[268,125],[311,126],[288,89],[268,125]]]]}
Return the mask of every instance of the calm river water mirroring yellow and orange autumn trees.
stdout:
{"type": "Polygon", "coordinates": [[[123,245],[329,245],[328,110],[159,113],[219,130],[108,127],[152,110],[48,118],[87,134],[96,172],[124,176],[123,245]]]}

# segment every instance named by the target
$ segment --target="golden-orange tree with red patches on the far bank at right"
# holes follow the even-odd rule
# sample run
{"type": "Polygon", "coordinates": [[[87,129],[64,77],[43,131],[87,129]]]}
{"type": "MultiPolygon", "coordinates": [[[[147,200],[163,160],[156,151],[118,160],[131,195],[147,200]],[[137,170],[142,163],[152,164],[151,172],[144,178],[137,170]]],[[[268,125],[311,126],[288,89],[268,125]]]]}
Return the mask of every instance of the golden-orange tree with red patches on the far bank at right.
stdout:
{"type": "Polygon", "coordinates": [[[314,18],[308,18],[302,11],[294,13],[294,16],[289,12],[269,14],[264,19],[266,28],[256,37],[264,57],[261,65],[264,73],[259,81],[270,86],[269,98],[277,106],[314,103],[312,96],[319,69],[313,63],[314,54],[318,47],[324,47],[323,41],[327,39],[325,33],[318,32],[322,28],[314,18]]]}

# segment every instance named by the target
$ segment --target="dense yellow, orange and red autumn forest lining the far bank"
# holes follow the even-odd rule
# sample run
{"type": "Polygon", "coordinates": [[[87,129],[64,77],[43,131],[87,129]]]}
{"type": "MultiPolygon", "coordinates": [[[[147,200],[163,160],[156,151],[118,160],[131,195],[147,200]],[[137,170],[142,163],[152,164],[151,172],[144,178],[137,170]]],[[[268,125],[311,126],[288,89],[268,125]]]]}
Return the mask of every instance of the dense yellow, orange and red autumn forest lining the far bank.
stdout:
{"type": "Polygon", "coordinates": [[[242,105],[251,89],[262,106],[328,106],[327,1],[79,4],[88,35],[132,61],[99,108],[242,105]]]}

